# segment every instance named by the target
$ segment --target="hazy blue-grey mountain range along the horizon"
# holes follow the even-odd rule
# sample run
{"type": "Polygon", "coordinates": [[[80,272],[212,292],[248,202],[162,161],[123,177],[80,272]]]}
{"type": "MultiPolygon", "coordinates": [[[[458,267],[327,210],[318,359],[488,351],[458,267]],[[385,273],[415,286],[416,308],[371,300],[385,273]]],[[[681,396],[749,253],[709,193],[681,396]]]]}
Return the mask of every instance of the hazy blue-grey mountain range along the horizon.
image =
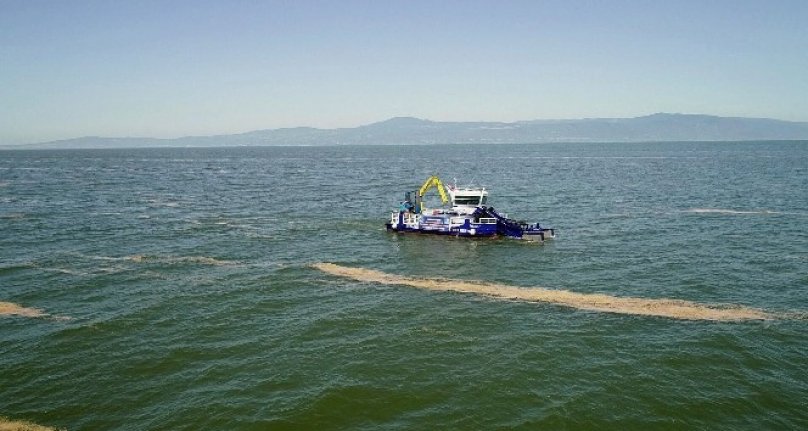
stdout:
{"type": "Polygon", "coordinates": [[[808,140],[808,123],[766,118],[653,114],[637,118],[438,122],[392,118],[343,129],[297,127],[176,139],[84,137],[5,149],[229,147],[269,145],[499,144],[808,140]]]}

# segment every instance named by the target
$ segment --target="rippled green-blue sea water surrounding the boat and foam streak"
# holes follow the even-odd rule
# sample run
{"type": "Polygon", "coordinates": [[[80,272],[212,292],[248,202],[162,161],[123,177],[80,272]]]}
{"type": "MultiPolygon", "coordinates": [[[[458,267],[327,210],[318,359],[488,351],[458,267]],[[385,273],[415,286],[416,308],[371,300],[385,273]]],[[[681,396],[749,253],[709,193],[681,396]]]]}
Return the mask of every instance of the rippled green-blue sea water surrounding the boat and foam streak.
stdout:
{"type": "Polygon", "coordinates": [[[68,430],[808,429],[808,142],[0,151],[0,302],[0,415],[68,430]],[[557,238],[387,233],[435,173],[557,238]]]}

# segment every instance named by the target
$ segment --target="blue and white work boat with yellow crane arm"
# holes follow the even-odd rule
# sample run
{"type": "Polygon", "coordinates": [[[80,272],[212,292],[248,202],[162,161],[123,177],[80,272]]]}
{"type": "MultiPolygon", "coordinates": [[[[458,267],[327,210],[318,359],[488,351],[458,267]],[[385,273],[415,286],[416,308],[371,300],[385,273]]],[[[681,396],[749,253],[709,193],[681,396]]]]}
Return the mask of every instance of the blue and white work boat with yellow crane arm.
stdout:
{"type": "Polygon", "coordinates": [[[540,242],[555,238],[553,229],[510,219],[486,206],[487,201],[485,188],[444,186],[433,175],[420,189],[405,193],[398,211],[386,223],[387,230],[463,237],[502,236],[540,242]],[[432,188],[440,196],[440,208],[424,206],[424,195],[432,188]]]}

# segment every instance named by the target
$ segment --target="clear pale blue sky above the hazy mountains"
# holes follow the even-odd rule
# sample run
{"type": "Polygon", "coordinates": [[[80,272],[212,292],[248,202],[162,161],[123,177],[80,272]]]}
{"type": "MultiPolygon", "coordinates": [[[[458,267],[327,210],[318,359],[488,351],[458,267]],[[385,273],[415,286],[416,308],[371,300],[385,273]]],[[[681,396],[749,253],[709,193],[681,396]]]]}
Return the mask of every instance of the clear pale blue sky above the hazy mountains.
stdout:
{"type": "Polygon", "coordinates": [[[0,0],[0,145],[391,117],[808,121],[808,1],[0,0]]]}

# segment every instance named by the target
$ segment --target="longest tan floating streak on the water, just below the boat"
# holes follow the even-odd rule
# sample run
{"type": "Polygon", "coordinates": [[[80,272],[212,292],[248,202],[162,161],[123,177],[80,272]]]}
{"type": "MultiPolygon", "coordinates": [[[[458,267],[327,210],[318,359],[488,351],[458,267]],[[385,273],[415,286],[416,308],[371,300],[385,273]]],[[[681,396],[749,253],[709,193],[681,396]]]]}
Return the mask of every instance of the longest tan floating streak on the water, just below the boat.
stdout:
{"type": "Polygon", "coordinates": [[[617,297],[605,294],[576,293],[542,287],[523,288],[479,281],[440,278],[412,278],[364,268],[351,268],[333,263],[312,265],[325,273],[352,280],[396,284],[419,289],[474,293],[506,300],[546,302],[580,310],[640,316],[667,317],[681,320],[742,321],[769,320],[774,316],[763,310],[740,305],[712,306],[679,299],[617,297]]]}

